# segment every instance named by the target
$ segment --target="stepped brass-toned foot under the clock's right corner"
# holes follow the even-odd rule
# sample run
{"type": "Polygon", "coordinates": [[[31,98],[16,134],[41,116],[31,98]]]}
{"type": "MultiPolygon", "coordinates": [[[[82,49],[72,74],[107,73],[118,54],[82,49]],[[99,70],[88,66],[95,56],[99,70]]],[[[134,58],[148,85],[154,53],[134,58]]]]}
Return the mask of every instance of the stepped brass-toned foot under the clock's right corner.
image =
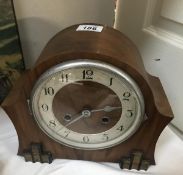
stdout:
{"type": "Polygon", "coordinates": [[[146,171],[149,168],[150,161],[143,158],[141,151],[135,151],[129,157],[122,158],[119,165],[121,169],[146,171]]]}

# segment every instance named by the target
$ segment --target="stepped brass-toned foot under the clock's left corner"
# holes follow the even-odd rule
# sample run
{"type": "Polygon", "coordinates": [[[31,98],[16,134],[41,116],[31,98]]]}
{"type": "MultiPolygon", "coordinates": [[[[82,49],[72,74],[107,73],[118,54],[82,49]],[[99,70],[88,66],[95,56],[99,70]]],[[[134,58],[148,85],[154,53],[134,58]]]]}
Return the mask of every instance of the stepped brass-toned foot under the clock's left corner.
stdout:
{"type": "Polygon", "coordinates": [[[43,146],[40,143],[31,143],[30,149],[23,152],[23,157],[26,162],[40,162],[40,163],[52,163],[52,154],[43,150],[43,146]]]}

